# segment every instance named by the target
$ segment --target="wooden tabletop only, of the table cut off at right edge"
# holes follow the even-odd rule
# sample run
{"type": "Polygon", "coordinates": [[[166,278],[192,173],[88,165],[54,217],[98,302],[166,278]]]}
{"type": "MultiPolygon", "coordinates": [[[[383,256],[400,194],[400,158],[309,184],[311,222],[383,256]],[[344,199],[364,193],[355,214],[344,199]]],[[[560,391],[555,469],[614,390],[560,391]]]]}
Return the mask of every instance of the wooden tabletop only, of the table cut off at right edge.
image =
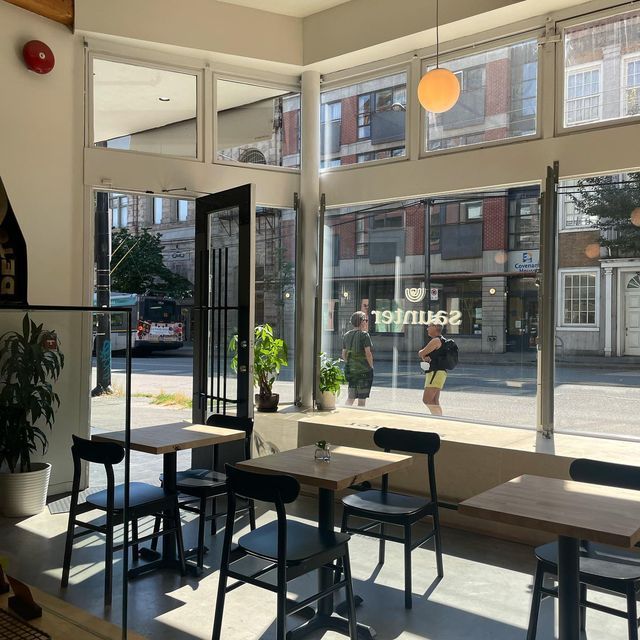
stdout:
{"type": "Polygon", "coordinates": [[[640,541],[640,492],[520,476],[460,504],[459,513],[556,535],[632,547],[640,541]]]}

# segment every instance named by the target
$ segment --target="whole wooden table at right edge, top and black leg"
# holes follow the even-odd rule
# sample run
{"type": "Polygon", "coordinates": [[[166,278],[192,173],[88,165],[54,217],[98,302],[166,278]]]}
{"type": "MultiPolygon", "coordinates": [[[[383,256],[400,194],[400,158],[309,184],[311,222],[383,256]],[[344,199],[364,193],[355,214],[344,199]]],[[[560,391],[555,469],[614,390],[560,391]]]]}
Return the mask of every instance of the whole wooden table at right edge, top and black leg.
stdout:
{"type": "Polygon", "coordinates": [[[640,492],[628,489],[525,475],[465,500],[459,512],[558,536],[560,640],[580,637],[580,539],[640,541],[640,492]]]}

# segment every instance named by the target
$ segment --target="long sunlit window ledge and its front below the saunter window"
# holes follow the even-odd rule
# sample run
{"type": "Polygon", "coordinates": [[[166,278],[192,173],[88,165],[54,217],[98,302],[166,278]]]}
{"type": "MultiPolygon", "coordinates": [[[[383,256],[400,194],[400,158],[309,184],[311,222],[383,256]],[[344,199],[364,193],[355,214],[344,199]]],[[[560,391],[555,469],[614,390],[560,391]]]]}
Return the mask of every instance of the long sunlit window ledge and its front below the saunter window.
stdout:
{"type": "MultiPolygon", "coordinates": [[[[295,407],[274,414],[258,414],[256,455],[269,455],[327,440],[331,444],[373,449],[373,432],[381,427],[436,432],[441,438],[436,456],[439,499],[458,504],[523,474],[569,479],[569,466],[577,458],[636,465],[640,441],[556,433],[543,438],[532,429],[499,427],[461,420],[387,413],[339,407],[335,411],[302,411],[295,407]]],[[[415,468],[392,475],[394,490],[424,494],[424,473],[415,468]]],[[[461,516],[443,509],[449,526],[487,535],[539,544],[549,538],[522,527],[509,527],[461,516]]]]}

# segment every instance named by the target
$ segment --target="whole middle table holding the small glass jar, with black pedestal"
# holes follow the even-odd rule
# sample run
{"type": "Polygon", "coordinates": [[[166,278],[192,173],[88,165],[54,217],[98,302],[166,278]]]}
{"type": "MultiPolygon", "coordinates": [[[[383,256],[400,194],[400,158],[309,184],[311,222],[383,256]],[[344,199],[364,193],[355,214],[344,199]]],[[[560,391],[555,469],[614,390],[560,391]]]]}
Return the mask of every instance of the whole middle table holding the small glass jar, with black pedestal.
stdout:
{"type": "MultiPolygon", "coordinates": [[[[385,473],[397,471],[411,465],[411,456],[352,447],[332,447],[331,461],[314,460],[315,446],[300,447],[271,456],[239,462],[237,466],[248,471],[262,473],[284,473],[293,476],[301,484],[318,487],[318,526],[324,531],[335,527],[335,492],[347,489],[352,484],[378,478],[385,473]]],[[[333,572],[321,569],[319,591],[332,584],[333,572]]],[[[289,632],[290,640],[297,640],[317,629],[332,629],[348,635],[348,621],[334,612],[333,596],[318,602],[313,617],[289,632]]],[[[358,637],[371,640],[375,631],[371,627],[358,624],[358,637]]]]}

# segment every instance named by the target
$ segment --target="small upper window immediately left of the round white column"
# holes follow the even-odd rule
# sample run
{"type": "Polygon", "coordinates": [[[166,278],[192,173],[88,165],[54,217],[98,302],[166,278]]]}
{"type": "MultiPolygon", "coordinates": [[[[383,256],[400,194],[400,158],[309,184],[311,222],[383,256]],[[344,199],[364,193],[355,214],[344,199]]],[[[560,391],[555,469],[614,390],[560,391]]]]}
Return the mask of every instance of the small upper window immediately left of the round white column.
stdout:
{"type": "Polygon", "coordinates": [[[218,80],[217,158],[300,168],[300,94],[218,80]]]}

